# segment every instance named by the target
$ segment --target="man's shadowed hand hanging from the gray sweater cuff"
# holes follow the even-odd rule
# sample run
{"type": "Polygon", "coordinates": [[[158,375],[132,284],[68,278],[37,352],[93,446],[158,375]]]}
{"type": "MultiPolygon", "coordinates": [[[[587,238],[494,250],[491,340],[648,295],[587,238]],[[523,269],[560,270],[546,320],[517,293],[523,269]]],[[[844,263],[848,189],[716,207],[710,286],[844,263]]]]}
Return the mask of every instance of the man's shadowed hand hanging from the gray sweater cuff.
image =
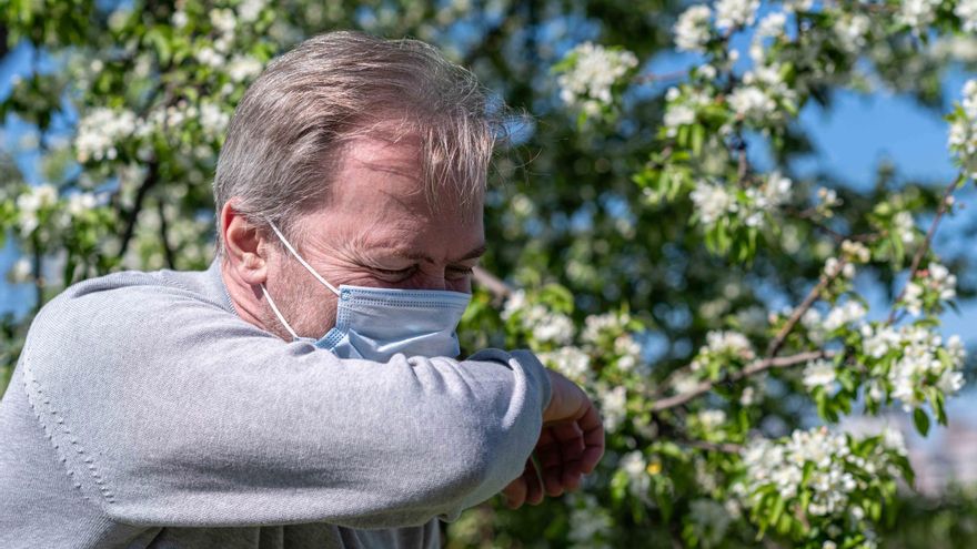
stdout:
{"type": "Polygon", "coordinates": [[[546,372],[553,396],[543,411],[543,431],[535,448],[543,470],[538,475],[533,460],[527,459],[523,474],[502,490],[513,509],[540,504],[544,491],[555,497],[575,490],[581,477],[593,471],[604,455],[604,426],[594,404],[573,382],[546,372]]]}

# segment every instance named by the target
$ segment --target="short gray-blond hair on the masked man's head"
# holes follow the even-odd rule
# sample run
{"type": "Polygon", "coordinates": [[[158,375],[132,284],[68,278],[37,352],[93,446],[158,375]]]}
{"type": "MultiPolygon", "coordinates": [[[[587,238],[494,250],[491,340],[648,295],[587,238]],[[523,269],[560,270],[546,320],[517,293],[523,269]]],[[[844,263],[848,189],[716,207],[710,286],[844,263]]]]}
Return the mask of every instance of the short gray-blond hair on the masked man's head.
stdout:
{"type": "MultiPolygon", "coordinates": [[[[289,235],[324,199],[343,145],[379,133],[420,140],[432,204],[445,189],[463,205],[481,203],[500,120],[475,77],[424,42],[350,31],[313,37],[273,60],[238,104],[218,159],[218,217],[235,197],[246,218],[289,235]]],[[[218,240],[222,253],[220,218],[218,240]]]]}

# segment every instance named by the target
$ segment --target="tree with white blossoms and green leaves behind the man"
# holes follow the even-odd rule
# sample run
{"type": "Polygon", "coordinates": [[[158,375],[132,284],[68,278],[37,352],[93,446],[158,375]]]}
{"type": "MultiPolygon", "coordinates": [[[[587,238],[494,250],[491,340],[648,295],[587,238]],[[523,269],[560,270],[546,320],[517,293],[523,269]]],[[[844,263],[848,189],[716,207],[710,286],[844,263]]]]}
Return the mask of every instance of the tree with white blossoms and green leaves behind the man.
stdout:
{"type": "MultiPolygon", "coordinates": [[[[417,35],[537,116],[513,138],[533,161],[497,162],[514,183],[486,200],[497,248],[465,346],[528,346],[596,395],[608,431],[582,492],[472,510],[449,543],[878,545],[913,484],[905,446],[834,426],[895,409],[926,435],[964,384],[938,327],[966,257],[933,244],[977,174],[977,81],[947,113],[959,174],[939,187],[792,176],[814,153],[798,113],[879,88],[938,109],[977,2],[719,0],[672,21],[623,1],[75,3],[3,4],[34,60],[3,112],[36,129],[42,181],[8,179],[0,222],[36,307],[113,270],[207,264],[215,155],[275,52],[331,28],[417,35]],[[642,69],[669,43],[701,62],[642,69]]],[[[29,322],[6,321],[8,376],[29,322]]]]}

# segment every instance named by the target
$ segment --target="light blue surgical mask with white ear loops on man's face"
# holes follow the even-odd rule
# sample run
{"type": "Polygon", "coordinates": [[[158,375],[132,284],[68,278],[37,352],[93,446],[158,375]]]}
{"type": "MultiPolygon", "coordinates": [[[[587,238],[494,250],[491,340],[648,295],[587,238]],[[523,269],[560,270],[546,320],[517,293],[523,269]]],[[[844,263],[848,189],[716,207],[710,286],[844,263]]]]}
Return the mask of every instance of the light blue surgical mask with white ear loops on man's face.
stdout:
{"type": "Polygon", "coordinates": [[[336,302],[336,325],[321,339],[300,337],[282,316],[274,301],[261,285],[272,312],[295,340],[306,340],[333,352],[340,358],[365,358],[386,362],[393,355],[449,356],[460,353],[457,324],[472,296],[442,289],[395,289],[341,285],[326,282],[285,240],[274,224],[272,231],[299,263],[322,285],[332,291],[336,302]]]}

